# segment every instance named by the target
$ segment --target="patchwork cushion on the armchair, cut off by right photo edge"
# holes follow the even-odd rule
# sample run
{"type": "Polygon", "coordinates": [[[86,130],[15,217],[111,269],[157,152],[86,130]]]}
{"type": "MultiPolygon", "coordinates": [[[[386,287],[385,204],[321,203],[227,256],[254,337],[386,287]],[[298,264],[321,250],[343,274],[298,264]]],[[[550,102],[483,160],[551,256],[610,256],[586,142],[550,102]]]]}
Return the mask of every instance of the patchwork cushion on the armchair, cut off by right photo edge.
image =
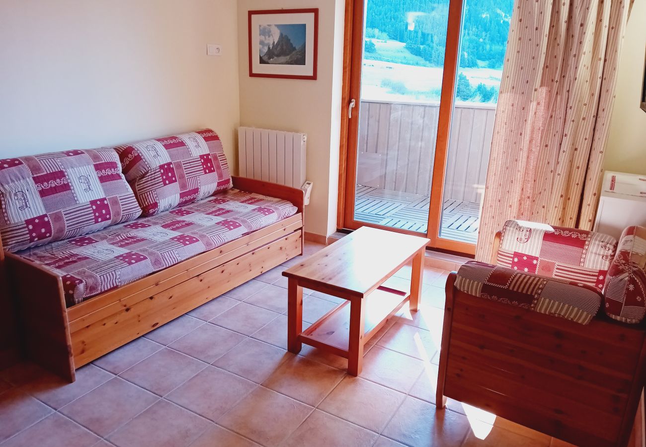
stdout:
{"type": "Polygon", "coordinates": [[[621,234],[610,264],[605,312],[626,323],[639,323],[646,313],[646,227],[628,227],[621,234]]]}

